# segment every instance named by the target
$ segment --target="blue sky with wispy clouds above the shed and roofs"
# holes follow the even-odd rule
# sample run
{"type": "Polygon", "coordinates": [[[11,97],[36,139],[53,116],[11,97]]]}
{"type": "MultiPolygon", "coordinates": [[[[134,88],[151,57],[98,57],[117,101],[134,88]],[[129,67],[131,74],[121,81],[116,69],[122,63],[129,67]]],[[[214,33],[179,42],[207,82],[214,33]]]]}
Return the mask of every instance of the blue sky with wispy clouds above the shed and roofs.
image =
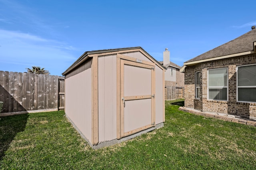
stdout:
{"type": "Polygon", "coordinates": [[[85,51],[141,46],[180,66],[256,25],[254,0],[0,0],[0,70],[61,75],[85,51]]]}

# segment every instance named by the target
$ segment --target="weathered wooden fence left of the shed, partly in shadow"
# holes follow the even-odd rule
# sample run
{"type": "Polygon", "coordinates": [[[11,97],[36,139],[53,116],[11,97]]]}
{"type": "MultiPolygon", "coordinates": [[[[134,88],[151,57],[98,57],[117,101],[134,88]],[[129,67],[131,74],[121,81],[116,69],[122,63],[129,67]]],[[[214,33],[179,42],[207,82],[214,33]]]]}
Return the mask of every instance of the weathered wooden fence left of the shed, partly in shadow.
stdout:
{"type": "Polygon", "coordinates": [[[0,71],[2,113],[64,109],[64,77],[0,71]]]}

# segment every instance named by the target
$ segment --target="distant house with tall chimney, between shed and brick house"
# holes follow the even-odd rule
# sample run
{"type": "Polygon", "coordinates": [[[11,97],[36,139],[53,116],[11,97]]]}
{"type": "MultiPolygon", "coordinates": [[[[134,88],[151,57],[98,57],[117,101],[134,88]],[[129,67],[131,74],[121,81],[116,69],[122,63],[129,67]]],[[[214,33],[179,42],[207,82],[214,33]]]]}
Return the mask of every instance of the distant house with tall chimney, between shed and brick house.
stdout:
{"type": "Polygon", "coordinates": [[[159,63],[163,64],[167,69],[164,74],[165,86],[184,87],[184,73],[180,72],[181,66],[170,61],[170,51],[167,48],[163,55],[164,61],[159,63]]]}

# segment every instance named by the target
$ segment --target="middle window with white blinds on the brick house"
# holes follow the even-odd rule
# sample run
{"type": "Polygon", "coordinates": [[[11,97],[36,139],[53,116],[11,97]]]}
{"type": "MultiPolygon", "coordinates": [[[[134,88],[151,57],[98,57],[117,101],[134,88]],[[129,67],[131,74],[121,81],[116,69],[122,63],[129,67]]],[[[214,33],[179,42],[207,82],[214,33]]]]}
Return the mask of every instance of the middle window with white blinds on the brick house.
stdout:
{"type": "Polygon", "coordinates": [[[208,70],[208,100],[228,100],[228,68],[208,70]]]}

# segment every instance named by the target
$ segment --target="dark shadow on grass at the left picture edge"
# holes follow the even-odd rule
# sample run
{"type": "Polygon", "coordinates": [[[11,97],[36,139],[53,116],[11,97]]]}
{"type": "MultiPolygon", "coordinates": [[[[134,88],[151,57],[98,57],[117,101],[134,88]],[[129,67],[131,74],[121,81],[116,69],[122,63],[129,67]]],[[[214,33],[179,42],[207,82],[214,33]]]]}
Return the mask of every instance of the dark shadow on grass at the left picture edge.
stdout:
{"type": "Polygon", "coordinates": [[[28,114],[1,117],[0,119],[0,160],[17,133],[24,131],[28,114]]]}

